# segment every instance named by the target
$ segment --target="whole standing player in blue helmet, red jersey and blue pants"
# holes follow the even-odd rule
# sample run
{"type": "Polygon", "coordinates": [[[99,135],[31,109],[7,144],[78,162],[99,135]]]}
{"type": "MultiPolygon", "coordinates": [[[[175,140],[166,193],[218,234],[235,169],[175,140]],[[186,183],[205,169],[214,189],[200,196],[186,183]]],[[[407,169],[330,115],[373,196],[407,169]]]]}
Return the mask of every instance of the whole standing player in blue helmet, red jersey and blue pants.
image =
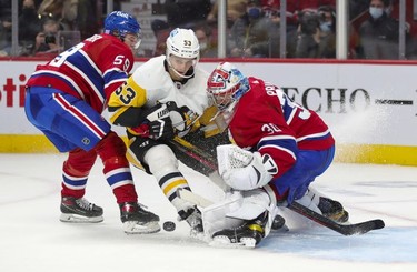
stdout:
{"type": "Polygon", "coordinates": [[[159,216],[138,203],[123,141],[101,115],[110,94],[121,85],[140,43],[140,26],[122,11],[105,20],[95,34],[38,66],[27,83],[26,114],[60,152],[63,163],[62,222],[101,222],[103,210],[83,195],[97,157],[120,208],[126,233],[160,230],[159,216]]]}

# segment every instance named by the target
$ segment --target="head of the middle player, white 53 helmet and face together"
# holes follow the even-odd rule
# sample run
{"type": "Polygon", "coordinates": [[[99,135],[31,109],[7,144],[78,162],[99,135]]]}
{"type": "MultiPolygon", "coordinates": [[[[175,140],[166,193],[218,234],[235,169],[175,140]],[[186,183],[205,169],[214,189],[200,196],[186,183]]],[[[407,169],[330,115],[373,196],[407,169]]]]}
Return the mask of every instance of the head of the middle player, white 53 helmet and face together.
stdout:
{"type": "Polygon", "coordinates": [[[176,28],[167,39],[167,62],[180,78],[193,77],[193,68],[200,58],[200,44],[191,29],[176,28]]]}

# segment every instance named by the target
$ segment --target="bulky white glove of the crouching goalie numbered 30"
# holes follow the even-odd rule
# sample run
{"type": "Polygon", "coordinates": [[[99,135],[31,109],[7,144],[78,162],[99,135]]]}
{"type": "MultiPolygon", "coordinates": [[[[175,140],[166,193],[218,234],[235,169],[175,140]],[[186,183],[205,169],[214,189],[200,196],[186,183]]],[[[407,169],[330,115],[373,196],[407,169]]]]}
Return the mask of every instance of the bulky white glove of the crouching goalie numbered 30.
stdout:
{"type": "Polygon", "coordinates": [[[219,174],[236,190],[261,188],[278,173],[278,167],[268,154],[249,152],[235,144],[217,147],[219,174]]]}

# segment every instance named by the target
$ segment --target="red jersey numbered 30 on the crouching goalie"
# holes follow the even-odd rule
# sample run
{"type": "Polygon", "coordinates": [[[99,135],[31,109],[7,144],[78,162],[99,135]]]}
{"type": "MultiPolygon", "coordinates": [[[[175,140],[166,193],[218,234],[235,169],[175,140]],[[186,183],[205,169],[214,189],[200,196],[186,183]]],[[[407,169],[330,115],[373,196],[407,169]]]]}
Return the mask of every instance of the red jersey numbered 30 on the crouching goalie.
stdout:
{"type": "Polygon", "coordinates": [[[298,150],[326,150],[335,140],[321,118],[291,101],[281,89],[257,78],[248,78],[245,93],[229,124],[240,148],[268,153],[280,177],[297,160],[298,150]]]}

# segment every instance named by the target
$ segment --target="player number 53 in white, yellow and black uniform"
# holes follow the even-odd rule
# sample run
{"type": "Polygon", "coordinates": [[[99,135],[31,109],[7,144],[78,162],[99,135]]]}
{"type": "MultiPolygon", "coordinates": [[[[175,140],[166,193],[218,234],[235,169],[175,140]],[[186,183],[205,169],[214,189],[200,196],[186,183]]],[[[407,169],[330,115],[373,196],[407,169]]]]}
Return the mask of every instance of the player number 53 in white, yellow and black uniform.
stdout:
{"type": "Polygon", "coordinates": [[[191,233],[199,233],[199,210],[177,194],[178,189],[190,187],[178,169],[181,152],[171,140],[198,127],[208,109],[208,73],[197,67],[200,48],[192,30],[177,28],[166,43],[165,56],[140,66],[110,97],[110,121],[128,127],[128,159],[157,179],[179,219],[188,222],[191,233]]]}

